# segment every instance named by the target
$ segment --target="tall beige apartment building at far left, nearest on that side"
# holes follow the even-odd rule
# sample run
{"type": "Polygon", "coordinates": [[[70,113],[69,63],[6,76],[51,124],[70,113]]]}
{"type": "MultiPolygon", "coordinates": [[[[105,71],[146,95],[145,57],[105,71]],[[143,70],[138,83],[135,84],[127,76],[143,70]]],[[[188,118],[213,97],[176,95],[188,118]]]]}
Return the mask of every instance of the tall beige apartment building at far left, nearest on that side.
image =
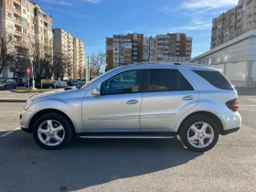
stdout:
{"type": "MultiPolygon", "coordinates": [[[[19,53],[24,48],[31,51],[32,44],[35,43],[44,46],[52,44],[52,19],[39,5],[27,0],[5,0],[1,1],[0,10],[2,37],[11,40],[9,44],[13,46],[9,51],[19,53]]],[[[39,56],[44,52],[44,46],[40,48],[39,56]]],[[[17,72],[19,76],[23,76],[24,73],[23,69],[17,72]]],[[[1,74],[4,78],[12,75],[12,69],[9,68],[5,68],[1,74]]]]}

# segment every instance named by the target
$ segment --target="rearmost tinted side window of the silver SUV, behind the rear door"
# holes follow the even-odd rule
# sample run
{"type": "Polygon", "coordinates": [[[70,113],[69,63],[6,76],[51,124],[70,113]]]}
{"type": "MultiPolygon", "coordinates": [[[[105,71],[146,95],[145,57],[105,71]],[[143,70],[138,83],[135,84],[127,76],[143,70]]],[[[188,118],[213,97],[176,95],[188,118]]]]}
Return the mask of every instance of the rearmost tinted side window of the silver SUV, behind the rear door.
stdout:
{"type": "Polygon", "coordinates": [[[207,80],[214,87],[220,90],[234,90],[231,83],[227,78],[222,75],[219,71],[209,71],[209,70],[193,70],[197,75],[201,76],[203,79],[207,80]]]}

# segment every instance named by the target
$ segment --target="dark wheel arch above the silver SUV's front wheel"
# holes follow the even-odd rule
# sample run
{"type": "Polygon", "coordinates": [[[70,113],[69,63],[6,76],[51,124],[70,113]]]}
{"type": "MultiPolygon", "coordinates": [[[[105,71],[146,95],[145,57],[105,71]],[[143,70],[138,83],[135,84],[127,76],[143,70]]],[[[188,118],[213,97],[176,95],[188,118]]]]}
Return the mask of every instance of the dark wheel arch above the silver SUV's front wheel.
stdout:
{"type": "Polygon", "coordinates": [[[29,122],[28,132],[32,133],[33,125],[34,125],[34,123],[36,123],[37,119],[40,116],[42,116],[44,114],[47,114],[47,113],[50,113],[50,112],[59,113],[59,114],[63,115],[64,117],[66,117],[66,120],[68,120],[68,122],[71,125],[72,133],[73,133],[73,135],[75,135],[75,133],[76,133],[75,126],[74,126],[74,123],[72,123],[72,121],[70,120],[69,116],[65,112],[61,112],[61,111],[56,110],[56,109],[44,109],[44,110],[41,110],[41,111],[37,112],[36,114],[34,114],[34,116],[31,118],[31,120],[29,122]]]}

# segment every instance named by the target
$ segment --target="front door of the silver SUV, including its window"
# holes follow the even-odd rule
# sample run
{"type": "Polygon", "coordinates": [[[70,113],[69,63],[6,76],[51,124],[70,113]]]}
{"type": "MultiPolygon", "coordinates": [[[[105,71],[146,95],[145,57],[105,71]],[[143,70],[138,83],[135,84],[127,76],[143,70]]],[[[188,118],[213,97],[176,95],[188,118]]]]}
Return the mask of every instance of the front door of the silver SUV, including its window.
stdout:
{"type": "Polygon", "coordinates": [[[142,69],[123,71],[95,85],[101,95],[89,91],[82,102],[82,121],[87,132],[140,132],[142,69]],[[122,82],[131,77],[133,83],[122,82]]]}

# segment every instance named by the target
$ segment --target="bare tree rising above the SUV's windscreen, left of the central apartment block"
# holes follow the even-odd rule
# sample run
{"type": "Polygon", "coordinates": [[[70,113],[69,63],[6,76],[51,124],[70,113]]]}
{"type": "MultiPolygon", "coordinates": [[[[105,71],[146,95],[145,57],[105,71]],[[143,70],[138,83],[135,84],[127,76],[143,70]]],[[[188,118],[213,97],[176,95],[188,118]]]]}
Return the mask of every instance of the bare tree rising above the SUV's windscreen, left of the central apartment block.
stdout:
{"type": "Polygon", "coordinates": [[[100,75],[101,69],[105,69],[106,66],[106,53],[99,52],[97,55],[92,54],[90,64],[91,67],[95,69],[95,74],[100,75]]]}

